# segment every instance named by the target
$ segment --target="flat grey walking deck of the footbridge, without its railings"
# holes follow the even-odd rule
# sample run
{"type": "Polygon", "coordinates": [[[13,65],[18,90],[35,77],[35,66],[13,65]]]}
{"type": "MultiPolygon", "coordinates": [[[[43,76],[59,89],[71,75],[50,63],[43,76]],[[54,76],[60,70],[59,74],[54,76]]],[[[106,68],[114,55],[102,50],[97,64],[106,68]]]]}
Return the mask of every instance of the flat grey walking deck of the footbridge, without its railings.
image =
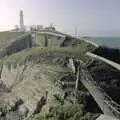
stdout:
{"type": "Polygon", "coordinates": [[[104,114],[108,116],[114,116],[111,109],[108,107],[108,105],[105,103],[105,96],[103,94],[103,91],[100,90],[92,81],[92,78],[90,78],[88,72],[86,70],[82,70],[83,76],[81,77],[82,84],[88,89],[90,94],[93,96],[96,103],[99,105],[101,110],[104,114]]]}

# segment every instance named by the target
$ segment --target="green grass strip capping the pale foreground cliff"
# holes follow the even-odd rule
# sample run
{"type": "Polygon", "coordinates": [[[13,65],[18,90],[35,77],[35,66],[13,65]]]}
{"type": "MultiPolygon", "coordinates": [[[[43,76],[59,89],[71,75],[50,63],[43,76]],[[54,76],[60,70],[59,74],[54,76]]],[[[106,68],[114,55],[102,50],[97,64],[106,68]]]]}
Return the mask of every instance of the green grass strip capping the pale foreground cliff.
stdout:
{"type": "Polygon", "coordinates": [[[0,63],[4,63],[5,65],[17,65],[17,64],[25,64],[27,61],[32,61],[35,63],[39,62],[48,62],[51,63],[53,60],[53,54],[59,56],[62,54],[63,56],[75,56],[77,58],[81,58],[83,61],[88,60],[89,58],[84,55],[83,51],[80,51],[79,48],[47,48],[47,47],[34,47],[28,48],[21,52],[12,54],[10,56],[6,56],[1,59],[0,63]],[[48,57],[49,56],[49,57],[48,57]],[[45,58],[45,59],[43,59],[45,58]],[[47,59],[48,58],[48,59],[47,59]]]}

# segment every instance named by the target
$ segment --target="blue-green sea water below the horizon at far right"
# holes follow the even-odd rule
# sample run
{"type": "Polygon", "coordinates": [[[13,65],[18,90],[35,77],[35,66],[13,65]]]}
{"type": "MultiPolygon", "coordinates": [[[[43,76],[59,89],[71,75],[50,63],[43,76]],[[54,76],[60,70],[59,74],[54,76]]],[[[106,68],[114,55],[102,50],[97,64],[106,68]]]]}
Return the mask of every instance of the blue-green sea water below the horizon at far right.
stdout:
{"type": "Polygon", "coordinates": [[[120,37],[92,37],[90,40],[98,45],[120,49],[120,37]]]}

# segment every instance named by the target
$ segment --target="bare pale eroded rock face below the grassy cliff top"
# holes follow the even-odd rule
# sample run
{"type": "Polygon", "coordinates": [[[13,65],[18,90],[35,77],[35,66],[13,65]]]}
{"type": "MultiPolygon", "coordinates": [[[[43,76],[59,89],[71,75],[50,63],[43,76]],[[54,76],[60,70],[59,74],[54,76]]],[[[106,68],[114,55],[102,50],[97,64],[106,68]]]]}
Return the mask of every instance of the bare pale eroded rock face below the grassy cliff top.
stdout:
{"type": "Polygon", "coordinates": [[[61,60],[64,61],[65,57],[57,59],[50,64],[27,62],[24,65],[17,64],[16,67],[11,65],[10,68],[2,65],[1,119],[23,119],[32,114],[47,112],[55,105],[54,95],[64,94],[56,82],[70,72],[67,67],[58,64],[61,60]],[[55,63],[56,61],[59,62],[55,63]]]}

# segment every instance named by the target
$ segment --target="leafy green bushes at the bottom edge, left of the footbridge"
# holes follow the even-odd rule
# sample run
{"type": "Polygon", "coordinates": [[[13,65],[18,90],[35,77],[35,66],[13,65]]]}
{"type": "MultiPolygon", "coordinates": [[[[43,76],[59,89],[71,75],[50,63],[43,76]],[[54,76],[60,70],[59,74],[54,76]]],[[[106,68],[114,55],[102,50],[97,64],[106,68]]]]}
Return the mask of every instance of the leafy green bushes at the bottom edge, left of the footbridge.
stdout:
{"type": "Polygon", "coordinates": [[[83,104],[58,105],[46,115],[35,115],[28,120],[95,120],[99,114],[85,111],[83,104]]]}

